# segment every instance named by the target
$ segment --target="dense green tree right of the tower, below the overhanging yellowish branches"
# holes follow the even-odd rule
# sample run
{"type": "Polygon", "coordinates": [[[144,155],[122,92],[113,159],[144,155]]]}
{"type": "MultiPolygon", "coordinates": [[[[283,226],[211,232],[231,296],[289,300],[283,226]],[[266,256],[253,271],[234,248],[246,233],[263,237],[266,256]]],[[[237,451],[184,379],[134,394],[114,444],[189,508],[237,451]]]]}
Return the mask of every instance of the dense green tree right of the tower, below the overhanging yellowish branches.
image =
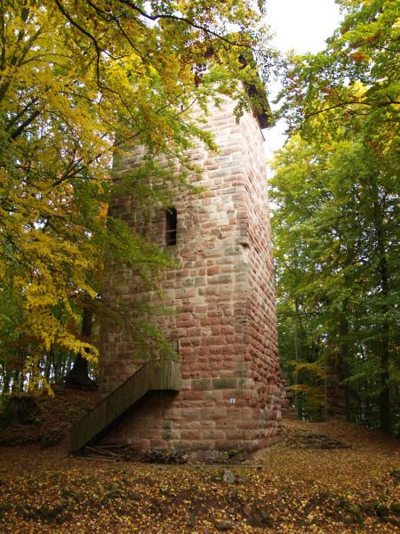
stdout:
{"type": "Polygon", "coordinates": [[[306,361],[336,368],[350,390],[370,381],[370,404],[379,404],[380,427],[387,433],[396,422],[390,398],[392,391],[394,403],[399,364],[394,162],[390,153],[372,150],[364,134],[349,139],[345,129],[332,129],[324,143],[293,137],[276,156],[271,180],[282,325],[285,332],[293,329],[287,320],[298,319],[297,303],[308,344],[318,346],[313,354],[304,352],[303,343],[294,367],[304,370],[306,361]]]}

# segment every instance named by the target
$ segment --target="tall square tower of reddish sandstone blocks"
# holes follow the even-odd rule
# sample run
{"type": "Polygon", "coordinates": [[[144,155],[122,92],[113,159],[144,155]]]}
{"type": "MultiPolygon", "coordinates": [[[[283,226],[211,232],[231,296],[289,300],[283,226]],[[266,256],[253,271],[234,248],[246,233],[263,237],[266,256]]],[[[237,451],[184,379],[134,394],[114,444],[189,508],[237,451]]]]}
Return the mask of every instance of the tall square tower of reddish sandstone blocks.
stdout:
{"type": "MultiPolygon", "coordinates": [[[[170,212],[154,214],[148,236],[180,267],[165,274],[164,303],[178,310],[166,335],[181,359],[180,392],[152,392],[120,418],[108,440],[138,449],[184,449],[192,457],[251,454],[276,438],[280,379],[263,117],[236,124],[234,101],[213,108],[206,128],[218,154],[192,150],[204,169],[203,193],[185,192],[170,212]]],[[[117,172],[140,163],[140,149],[117,172]]],[[[114,214],[138,228],[134,199],[115,199],[114,214]]],[[[141,298],[137,280],[110,274],[106,298],[141,298]],[[108,293],[108,294],[107,294],[108,293]]],[[[112,392],[137,368],[129,336],[103,328],[100,391],[112,392]]]]}

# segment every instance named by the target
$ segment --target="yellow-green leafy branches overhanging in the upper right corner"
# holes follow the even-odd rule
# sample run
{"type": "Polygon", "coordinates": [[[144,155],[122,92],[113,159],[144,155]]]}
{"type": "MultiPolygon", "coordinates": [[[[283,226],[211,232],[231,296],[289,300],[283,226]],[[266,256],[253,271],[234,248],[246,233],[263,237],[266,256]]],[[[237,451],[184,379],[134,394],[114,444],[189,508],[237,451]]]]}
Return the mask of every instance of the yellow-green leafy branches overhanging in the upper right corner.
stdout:
{"type": "Polygon", "coordinates": [[[345,15],[321,53],[286,63],[282,111],[291,130],[313,135],[314,117],[332,122],[364,116],[364,127],[380,125],[377,141],[396,142],[400,105],[398,5],[396,0],[338,0],[345,15]]]}

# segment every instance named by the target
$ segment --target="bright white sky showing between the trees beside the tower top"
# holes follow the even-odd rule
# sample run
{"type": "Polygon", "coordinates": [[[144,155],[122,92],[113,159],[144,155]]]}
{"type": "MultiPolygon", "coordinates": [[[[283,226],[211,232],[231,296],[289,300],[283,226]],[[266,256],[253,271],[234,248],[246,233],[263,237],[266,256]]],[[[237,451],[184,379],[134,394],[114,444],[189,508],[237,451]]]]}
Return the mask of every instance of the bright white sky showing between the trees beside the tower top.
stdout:
{"type": "MultiPolygon", "coordinates": [[[[282,53],[323,50],[325,40],[332,36],[339,22],[339,5],[334,0],[267,0],[267,23],[276,34],[272,44],[282,53]]],[[[269,88],[272,93],[276,90],[277,87],[269,88]]],[[[284,122],[279,121],[265,131],[268,159],[284,144],[284,129],[284,122]]]]}

